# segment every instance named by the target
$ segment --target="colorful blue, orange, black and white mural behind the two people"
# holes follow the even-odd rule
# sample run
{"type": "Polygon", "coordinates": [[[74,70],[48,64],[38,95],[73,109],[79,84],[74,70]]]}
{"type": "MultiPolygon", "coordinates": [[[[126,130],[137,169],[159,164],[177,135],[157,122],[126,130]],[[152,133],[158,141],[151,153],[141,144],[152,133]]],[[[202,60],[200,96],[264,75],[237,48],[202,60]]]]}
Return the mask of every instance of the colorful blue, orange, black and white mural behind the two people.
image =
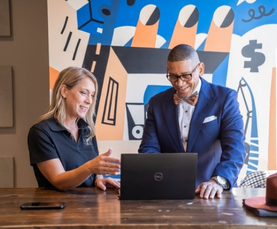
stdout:
{"type": "Polygon", "coordinates": [[[50,91],[68,66],[95,74],[98,140],[140,141],[149,98],[171,86],[167,55],[187,43],[205,79],[238,91],[248,150],[241,177],[277,169],[277,2],[48,0],[48,14],[50,91]]]}

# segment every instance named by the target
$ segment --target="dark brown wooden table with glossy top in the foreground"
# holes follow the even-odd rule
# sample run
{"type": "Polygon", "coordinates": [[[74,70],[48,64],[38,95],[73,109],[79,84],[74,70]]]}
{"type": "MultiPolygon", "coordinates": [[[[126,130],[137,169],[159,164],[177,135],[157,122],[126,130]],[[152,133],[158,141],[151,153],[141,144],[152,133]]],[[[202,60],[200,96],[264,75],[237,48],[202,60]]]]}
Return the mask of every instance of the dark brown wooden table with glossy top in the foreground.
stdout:
{"type": "Polygon", "coordinates": [[[0,189],[0,228],[277,228],[277,218],[258,217],[242,199],[265,189],[234,188],[221,199],[119,200],[115,189],[0,189]],[[23,202],[63,201],[63,210],[20,210],[23,202]]]}

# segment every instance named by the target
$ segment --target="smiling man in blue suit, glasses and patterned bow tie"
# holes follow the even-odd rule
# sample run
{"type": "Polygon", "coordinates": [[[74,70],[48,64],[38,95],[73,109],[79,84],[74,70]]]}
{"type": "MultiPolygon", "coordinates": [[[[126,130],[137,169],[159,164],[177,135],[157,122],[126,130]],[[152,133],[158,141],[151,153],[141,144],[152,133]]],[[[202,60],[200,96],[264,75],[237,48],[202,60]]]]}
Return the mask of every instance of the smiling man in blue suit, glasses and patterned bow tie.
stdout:
{"type": "Polygon", "coordinates": [[[138,153],[198,153],[195,193],[221,198],[237,186],[246,156],[237,92],[203,79],[190,45],[170,51],[167,70],[173,88],[149,100],[138,153]]]}

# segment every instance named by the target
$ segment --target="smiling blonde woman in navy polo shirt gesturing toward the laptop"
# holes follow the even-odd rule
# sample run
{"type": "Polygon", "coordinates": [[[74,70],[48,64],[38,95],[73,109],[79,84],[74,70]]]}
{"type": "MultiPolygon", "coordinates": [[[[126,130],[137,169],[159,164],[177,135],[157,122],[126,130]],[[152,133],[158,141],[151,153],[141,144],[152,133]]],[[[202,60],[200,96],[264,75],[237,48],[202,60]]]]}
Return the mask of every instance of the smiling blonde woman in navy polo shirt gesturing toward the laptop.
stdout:
{"type": "Polygon", "coordinates": [[[67,190],[75,187],[120,184],[102,174],[120,171],[120,159],[111,149],[99,155],[93,116],[98,92],[96,77],[85,68],[61,71],[46,114],[28,134],[30,162],[39,187],[67,190]]]}

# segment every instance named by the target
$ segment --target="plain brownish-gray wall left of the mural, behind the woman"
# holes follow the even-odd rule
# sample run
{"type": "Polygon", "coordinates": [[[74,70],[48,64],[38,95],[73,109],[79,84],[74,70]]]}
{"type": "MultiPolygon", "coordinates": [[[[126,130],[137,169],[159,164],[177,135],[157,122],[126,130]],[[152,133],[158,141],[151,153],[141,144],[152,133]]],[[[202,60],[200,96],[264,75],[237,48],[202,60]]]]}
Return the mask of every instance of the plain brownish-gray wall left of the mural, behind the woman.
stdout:
{"type": "MultiPolygon", "coordinates": [[[[14,157],[14,187],[37,187],[27,135],[49,105],[47,0],[10,0],[10,14],[11,37],[0,37],[0,66],[13,69],[14,127],[0,127],[0,158],[14,157]]],[[[0,170],[0,181],[7,174],[0,170]]]]}

